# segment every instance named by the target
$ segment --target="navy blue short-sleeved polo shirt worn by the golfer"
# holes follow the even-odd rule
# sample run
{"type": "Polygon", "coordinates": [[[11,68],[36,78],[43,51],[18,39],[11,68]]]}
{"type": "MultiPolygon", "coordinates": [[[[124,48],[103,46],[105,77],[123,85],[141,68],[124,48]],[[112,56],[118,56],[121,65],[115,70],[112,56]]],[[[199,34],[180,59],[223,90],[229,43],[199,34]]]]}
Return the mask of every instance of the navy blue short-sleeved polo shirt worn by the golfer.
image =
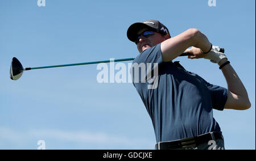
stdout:
{"type": "MultiPolygon", "coordinates": [[[[163,62],[160,44],[144,50],[134,63],[152,63],[151,69],[146,69],[147,73],[151,70],[152,78],[156,78],[153,77],[156,70],[153,63],[158,63],[158,84],[155,89],[148,88],[152,82],[143,82],[141,78],[139,82],[134,81],[132,74],[133,84],[152,120],[156,142],[221,131],[213,118],[213,108],[224,109],[228,98],[226,88],[210,84],[172,62],[163,62]]],[[[143,72],[139,70],[140,75],[143,72]]]]}

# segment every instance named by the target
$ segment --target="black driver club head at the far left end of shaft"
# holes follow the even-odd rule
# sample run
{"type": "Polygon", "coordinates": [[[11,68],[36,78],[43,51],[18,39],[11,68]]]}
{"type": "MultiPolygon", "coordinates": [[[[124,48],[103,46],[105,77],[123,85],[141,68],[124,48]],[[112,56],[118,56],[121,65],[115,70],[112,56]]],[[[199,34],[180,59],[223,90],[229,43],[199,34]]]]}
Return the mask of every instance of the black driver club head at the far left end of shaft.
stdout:
{"type": "Polygon", "coordinates": [[[23,71],[24,69],[22,64],[17,58],[13,57],[10,68],[10,78],[14,81],[18,80],[20,77],[22,77],[23,71]]]}

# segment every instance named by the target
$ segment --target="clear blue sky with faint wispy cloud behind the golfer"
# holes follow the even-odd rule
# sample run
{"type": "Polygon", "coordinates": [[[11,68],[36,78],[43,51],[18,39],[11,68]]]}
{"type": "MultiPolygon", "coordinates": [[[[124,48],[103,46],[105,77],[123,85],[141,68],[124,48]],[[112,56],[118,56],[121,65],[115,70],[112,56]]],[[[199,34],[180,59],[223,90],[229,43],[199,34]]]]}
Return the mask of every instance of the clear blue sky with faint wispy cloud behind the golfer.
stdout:
{"type": "MultiPolygon", "coordinates": [[[[135,22],[158,19],[171,36],[198,28],[225,48],[251,108],[214,110],[226,149],[255,149],[255,1],[0,0],[0,149],[154,149],[150,117],[131,83],[97,82],[97,65],[25,71],[9,78],[11,58],[24,67],[130,58],[135,22]]],[[[177,58],[189,71],[227,87],[217,65],[177,58]]]]}

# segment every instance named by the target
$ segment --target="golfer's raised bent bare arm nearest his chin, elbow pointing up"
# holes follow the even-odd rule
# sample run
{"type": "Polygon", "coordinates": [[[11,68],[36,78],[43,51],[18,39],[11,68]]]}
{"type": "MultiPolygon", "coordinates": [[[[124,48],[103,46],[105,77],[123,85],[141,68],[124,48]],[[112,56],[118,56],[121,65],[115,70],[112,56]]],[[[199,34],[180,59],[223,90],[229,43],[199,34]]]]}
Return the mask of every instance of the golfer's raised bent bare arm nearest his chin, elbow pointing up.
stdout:
{"type": "Polygon", "coordinates": [[[161,43],[163,61],[168,62],[174,60],[190,46],[195,46],[196,48],[200,48],[203,52],[208,52],[211,44],[207,37],[198,29],[190,28],[180,33],[180,35],[161,43]]]}

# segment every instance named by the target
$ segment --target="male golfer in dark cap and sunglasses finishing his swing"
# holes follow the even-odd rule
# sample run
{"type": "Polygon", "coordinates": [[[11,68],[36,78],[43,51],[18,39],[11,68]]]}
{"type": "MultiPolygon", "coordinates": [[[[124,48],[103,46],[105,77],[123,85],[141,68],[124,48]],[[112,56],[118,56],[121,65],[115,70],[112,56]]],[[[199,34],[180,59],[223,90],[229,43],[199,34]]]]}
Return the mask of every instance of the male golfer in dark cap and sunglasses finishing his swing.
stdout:
{"type": "Polygon", "coordinates": [[[155,149],[224,149],[213,109],[243,110],[251,106],[247,91],[225,54],[218,52],[218,46],[212,45],[198,29],[190,28],[171,37],[168,28],[158,20],[132,24],[127,37],[139,51],[133,64],[158,64],[158,68],[152,65],[147,69],[151,73],[158,70],[154,77],[158,79],[156,88],[148,88],[152,82],[133,79],[154,126],[155,149]],[[190,59],[205,58],[216,63],[228,89],[210,84],[172,62],[183,52],[191,53],[190,59]]]}

